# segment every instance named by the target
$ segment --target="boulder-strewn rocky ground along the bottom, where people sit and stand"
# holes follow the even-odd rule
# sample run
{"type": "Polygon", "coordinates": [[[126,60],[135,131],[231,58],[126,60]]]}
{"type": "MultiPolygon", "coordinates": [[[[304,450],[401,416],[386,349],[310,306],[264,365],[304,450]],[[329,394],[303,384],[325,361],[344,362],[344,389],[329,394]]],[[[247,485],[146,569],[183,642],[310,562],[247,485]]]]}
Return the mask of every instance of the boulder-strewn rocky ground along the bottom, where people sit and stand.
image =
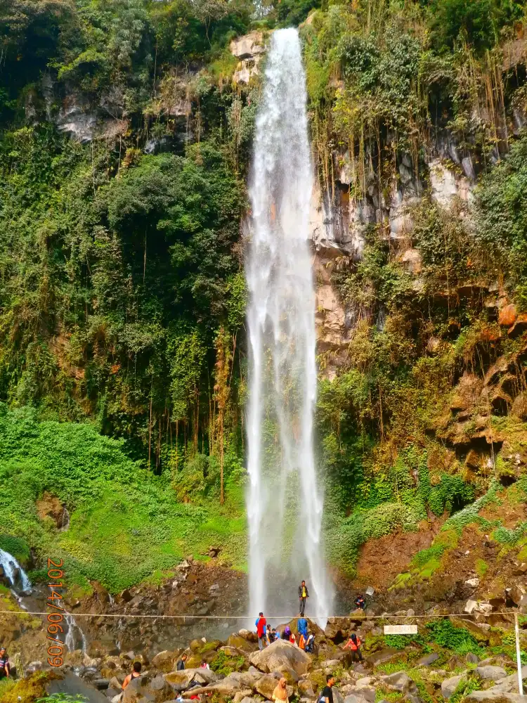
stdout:
{"type": "MultiPolygon", "coordinates": [[[[58,678],[55,673],[45,688],[48,692],[79,693],[90,703],[104,703],[119,694],[131,664],[141,661],[141,678],[126,688],[123,703],[174,703],[186,699],[263,703],[272,699],[282,676],[287,679],[290,699],[313,703],[327,673],[334,673],[337,678],[335,703],[439,703],[457,701],[460,694],[467,703],[527,703],[527,697],[518,694],[512,659],[506,654],[486,656],[488,645],[507,637],[512,616],[502,616],[501,628],[493,628],[492,633],[478,621],[479,617],[467,615],[463,620],[448,621],[459,631],[470,631],[479,638],[481,656],[474,652],[452,654],[442,646],[428,647],[431,651],[424,653],[427,647],[419,647],[415,640],[410,640],[408,647],[386,647],[382,627],[362,612],[354,612],[346,618],[330,619],[324,631],[309,621],[317,643],[314,654],[307,654],[286,640],[259,651],[255,633],[242,628],[230,633],[226,640],[196,638],[187,647],[157,652],[151,660],[141,651],[100,657],[81,657],[77,652],[77,671],[82,673],[82,679],[72,674],[70,659],[58,672],[58,678]],[[365,659],[357,664],[351,662],[349,651],[341,646],[352,631],[365,643],[365,659]],[[186,669],[176,671],[176,662],[183,652],[188,657],[186,669]],[[202,669],[203,661],[211,669],[202,669]]],[[[295,631],[296,619],[289,626],[295,631]]],[[[278,629],[284,627],[282,624],[278,629]]],[[[34,673],[38,669],[37,663],[27,667],[27,681],[39,676],[34,673]]],[[[527,678],[527,666],[522,675],[527,678]]],[[[20,700],[30,703],[31,699],[20,700]]],[[[11,699],[6,698],[6,703],[11,703],[11,699]]]]}

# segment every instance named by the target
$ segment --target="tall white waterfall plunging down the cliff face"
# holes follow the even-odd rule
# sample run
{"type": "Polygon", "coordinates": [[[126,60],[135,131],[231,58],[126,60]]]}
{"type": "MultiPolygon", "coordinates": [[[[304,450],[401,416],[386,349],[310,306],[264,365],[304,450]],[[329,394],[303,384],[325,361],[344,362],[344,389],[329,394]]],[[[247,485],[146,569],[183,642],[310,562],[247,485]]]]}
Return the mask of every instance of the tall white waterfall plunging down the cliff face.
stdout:
{"type": "Polygon", "coordinates": [[[297,30],[271,37],[256,118],[249,193],[252,221],[247,413],[249,589],[252,614],[330,614],[320,541],[323,498],[313,456],[315,293],[308,242],[313,169],[297,30]],[[278,608],[285,612],[277,613],[278,608]],[[269,610],[271,609],[271,610],[269,610]]]}

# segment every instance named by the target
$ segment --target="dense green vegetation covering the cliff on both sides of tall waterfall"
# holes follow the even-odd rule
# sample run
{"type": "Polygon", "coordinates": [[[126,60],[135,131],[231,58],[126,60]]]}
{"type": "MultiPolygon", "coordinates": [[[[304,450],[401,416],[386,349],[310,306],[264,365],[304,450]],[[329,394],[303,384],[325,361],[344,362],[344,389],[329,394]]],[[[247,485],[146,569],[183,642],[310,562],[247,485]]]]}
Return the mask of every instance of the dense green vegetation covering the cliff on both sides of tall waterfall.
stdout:
{"type": "MultiPolygon", "coordinates": [[[[53,547],[74,583],[112,591],[214,541],[243,565],[240,231],[259,77],[233,84],[228,45],[306,18],[327,204],[384,212],[364,228],[362,258],[332,268],[354,332],[319,388],[330,557],[352,573],[368,538],[519,477],[521,413],[468,408],[469,423],[505,437],[490,471],[456,453],[448,404],[464,373],[482,379],[500,356],[524,385],[522,338],[500,335],[488,304],[499,293],[527,306],[524,11],[513,0],[1,6],[0,546],[22,559],[53,547]],[[458,179],[469,160],[471,204],[432,197],[431,155],[458,179]],[[386,203],[403,186],[412,228],[393,239],[386,203]],[[417,273],[401,260],[409,247],[417,273]],[[66,532],[39,519],[44,491],[70,510],[66,532]]],[[[496,534],[517,543],[517,529],[496,534]]],[[[445,548],[412,568],[431,572],[445,548]]]]}

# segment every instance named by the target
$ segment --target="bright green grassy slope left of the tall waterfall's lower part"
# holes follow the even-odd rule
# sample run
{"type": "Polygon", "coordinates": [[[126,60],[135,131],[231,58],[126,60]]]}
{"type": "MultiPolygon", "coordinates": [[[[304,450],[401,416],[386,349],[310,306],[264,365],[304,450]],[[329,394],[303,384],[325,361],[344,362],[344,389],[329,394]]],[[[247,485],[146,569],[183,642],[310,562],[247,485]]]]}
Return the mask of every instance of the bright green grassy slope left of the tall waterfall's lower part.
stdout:
{"type": "MultiPolygon", "coordinates": [[[[130,460],[121,442],[90,425],[39,423],[28,411],[0,416],[0,547],[22,560],[27,546],[40,560],[62,557],[70,586],[97,579],[119,591],[158,579],[187,554],[199,557],[219,543],[222,556],[244,567],[242,489],[178,503],[168,477],[155,477],[130,460]],[[39,520],[43,491],[70,510],[70,528],[39,520]]],[[[37,576],[37,574],[34,574],[37,576]]]]}

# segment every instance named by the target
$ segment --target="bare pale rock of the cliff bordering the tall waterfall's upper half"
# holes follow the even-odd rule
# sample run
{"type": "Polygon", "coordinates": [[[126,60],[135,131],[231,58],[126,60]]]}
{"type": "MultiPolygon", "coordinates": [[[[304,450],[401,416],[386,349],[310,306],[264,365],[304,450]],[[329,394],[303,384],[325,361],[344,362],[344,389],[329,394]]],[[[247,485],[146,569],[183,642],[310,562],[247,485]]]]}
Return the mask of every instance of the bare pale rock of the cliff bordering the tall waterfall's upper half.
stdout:
{"type": "MultiPolygon", "coordinates": [[[[259,77],[259,64],[265,54],[268,36],[251,32],[230,44],[230,51],[239,63],[233,80],[249,84],[259,77]]],[[[416,276],[421,269],[419,252],[412,249],[410,236],[413,222],[411,210],[425,193],[445,209],[454,204],[465,217],[476,174],[471,157],[457,148],[451,134],[443,131],[429,147],[422,172],[416,169],[409,156],[403,157],[391,188],[382,191],[372,170],[366,176],[368,185],[363,198],[350,196],[355,181],[356,165],[349,151],[334,150],[334,184],[321,188],[315,183],[311,198],[311,240],[313,243],[313,271],[316,283],[316,326],[320,372],[334,378],[348,359],[348,347],[356,323],[356,311],[347,308],[334,285],[332,273],[339,266],[362,256],[365,231],[379,226],[405,269],[416,276]]]]}

